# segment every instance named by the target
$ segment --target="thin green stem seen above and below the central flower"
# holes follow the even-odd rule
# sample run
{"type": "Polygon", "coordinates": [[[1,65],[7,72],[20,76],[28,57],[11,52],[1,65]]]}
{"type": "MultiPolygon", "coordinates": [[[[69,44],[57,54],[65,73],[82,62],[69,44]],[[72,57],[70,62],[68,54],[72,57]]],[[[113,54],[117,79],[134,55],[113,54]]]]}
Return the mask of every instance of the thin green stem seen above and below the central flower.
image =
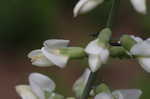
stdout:
{"type": "MultiPolygon", "coordinates": [[[[120,2],[120,0],[112,0],[110,12],[109,12],[109,16],[108,16],[108,20],[107,20],[107,24],[106,24],[107,28],[111,28],[111,26],[112,26],[113,16],[115,15],[115,12],[119,6],[119,2],[120,2]]],[[[87,85],[83,91],[83,95],[81,96],[81,99],[88,99],[89,93],[92,89],[92,85],[96,79],[96,74],[97,73],[93,73],[93,72],[90,73],[87,85]]]]}

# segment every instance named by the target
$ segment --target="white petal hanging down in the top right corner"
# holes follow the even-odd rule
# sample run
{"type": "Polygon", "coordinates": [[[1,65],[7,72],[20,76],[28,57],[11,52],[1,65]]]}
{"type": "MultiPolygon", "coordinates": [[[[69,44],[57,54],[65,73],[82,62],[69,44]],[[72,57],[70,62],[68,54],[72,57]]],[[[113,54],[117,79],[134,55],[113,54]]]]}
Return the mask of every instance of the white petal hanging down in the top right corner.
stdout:
{"type": "Polygon", "coordinates": [[[146,14],[146,0],[131,0],[134,9],[142,14],[146,14]]]}

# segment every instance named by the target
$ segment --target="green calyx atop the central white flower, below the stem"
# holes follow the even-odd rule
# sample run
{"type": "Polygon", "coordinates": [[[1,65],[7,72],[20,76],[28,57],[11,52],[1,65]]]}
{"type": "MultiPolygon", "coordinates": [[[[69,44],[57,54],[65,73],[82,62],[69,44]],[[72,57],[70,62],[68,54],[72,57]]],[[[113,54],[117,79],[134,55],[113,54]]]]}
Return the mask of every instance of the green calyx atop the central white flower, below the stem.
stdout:
{"type": "Polygon", "coordinates": [[[109,43],[111,35],[112,35],[112,32],[109,28],[103,29],[102,31],[100,31],[98,35],[98,42],[107,45],[109,43]]]}

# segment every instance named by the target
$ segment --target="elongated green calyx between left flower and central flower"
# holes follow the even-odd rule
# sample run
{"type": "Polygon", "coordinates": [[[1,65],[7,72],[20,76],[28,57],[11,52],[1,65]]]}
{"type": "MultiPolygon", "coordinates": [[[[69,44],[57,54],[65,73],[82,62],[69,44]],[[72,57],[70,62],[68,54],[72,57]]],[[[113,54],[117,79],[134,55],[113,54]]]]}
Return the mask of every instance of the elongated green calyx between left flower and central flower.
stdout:
{"type": "Polygon", "coordinates": [[[70,59],[78,59],[86,56],[84,49],[81,47],[61,48],[60,53],[69,56],[70,59]]]}

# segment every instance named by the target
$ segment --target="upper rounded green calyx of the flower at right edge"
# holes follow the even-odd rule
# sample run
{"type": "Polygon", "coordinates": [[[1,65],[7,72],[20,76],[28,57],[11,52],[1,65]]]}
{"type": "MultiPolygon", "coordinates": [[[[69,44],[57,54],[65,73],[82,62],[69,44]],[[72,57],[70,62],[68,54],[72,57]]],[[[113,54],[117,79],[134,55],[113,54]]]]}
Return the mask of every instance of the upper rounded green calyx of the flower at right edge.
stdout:
{"type": "Polygon", "coordinates": [[[121,45],[128,51],[136,44],[136,41],[129,35],[123,35],[120,39],[121,45]]]}

